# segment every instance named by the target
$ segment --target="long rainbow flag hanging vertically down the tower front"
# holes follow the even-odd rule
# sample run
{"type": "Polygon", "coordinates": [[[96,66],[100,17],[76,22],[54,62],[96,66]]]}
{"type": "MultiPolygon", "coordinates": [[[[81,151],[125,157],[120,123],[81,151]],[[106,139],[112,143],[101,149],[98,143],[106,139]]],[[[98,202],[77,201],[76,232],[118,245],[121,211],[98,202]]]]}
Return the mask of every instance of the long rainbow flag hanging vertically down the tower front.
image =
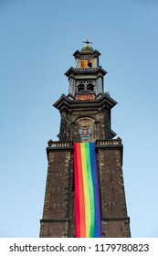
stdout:
{"type": "Polygon", "coordinates": [[[100,196],[95,143],[74,143],[76,238],[100,238],[100,196]]]}

